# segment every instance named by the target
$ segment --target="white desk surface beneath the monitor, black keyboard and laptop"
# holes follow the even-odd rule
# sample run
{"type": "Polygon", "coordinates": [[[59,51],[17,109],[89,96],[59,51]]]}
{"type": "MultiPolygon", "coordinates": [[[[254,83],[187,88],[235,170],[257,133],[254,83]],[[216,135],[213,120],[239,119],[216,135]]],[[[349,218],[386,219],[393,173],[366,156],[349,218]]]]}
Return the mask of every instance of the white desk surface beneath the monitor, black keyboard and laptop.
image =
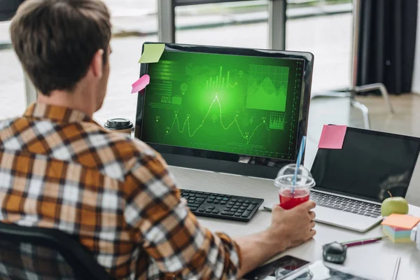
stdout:
{"type": "MultiPolygon", "coordinates": [[[[220,174],[214,172],[202,172],[191,169],[170,167],[179,188],[188,190],[200,190],[213,193],[225,193],[229,195],[243,195],[260,197],[265,202],[278,202],[279,198],[271,180],[254,179],[244,176],[220,174]]],[[[410,214],[420,216],[420,208],[410,206],[410,214]]],[[[214,232],[225,232],[235,237],[248,235],[265,230],[271,221],[271,214],[259,211],[249,223],[240,223],[228,220],[212,218],[200,218],[200,223],[214,232]]],[[[378,237],[384,235],[380,226],[360,234],[349,230],[335,228],[318,223],[317,234],[314,240],[297,248],[290,249],[282,255],[293,255],[304,260],[315,261],[322,259],[322,245],[332,241],[350,241],[353,239],[378,237]]],[[[278,255],[276,258],[279,258],[278,255]]],[[[367,244],[349,248],[344,265],[351,269],[360,269],[364,273],[376,277],[376,279],[392,279],[395,261],[401,256],[398,279],[420,279],[420,252],[414,244],[393,244],[389,240],[379,241],[376,244],[367,244]]]]}

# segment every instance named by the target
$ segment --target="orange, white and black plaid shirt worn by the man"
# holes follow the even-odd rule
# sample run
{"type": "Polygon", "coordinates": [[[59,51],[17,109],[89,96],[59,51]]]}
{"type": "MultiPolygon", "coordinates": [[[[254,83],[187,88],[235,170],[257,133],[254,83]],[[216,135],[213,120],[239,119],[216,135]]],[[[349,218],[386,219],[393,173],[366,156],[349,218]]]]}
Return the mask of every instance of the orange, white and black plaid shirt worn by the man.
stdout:
{"type": "Polygon", "coordinates": [[[239,247],[181,200],[165,161],[81,113],[0,122],[0,221],[75,235],[117,279],[235,279],[239,247]]]}

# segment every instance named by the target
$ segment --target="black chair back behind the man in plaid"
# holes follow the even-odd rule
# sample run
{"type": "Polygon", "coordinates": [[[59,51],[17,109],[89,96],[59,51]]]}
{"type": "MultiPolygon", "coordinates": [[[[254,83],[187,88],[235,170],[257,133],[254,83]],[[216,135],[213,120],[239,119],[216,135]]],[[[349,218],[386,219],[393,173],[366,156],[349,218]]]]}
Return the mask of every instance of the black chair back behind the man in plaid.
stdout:
{"type": "Polygon", "coordinates": [[[75,238],[64,232],[0,223],[0,279],[111,279],[75,238]]]}

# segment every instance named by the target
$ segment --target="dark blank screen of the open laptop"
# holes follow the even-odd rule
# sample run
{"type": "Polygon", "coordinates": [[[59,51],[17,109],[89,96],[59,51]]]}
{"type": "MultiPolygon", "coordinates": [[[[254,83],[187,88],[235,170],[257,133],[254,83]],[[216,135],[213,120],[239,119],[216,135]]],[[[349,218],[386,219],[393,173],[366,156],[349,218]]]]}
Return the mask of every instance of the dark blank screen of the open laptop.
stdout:
{"type": "Polygon", "coordinates": [[[318,149],[311,173],[316,190],[382,202],[405,197],[420,139],[347,127],[341,150],[318,149]]]}

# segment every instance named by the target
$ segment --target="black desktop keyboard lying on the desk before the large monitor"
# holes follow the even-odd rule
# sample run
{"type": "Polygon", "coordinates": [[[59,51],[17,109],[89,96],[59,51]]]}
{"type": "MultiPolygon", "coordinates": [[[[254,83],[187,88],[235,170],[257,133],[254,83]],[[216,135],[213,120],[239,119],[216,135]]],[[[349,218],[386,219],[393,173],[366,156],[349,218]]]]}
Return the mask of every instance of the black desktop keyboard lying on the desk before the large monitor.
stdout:
{"type": "Polygon", "coordinates": [[[264,200],[254,197],[238,197],[221,193],[205,193],[195,190],[181,190],[187,206],[195,216],[220,218],[248,222],[264,200]]]}

